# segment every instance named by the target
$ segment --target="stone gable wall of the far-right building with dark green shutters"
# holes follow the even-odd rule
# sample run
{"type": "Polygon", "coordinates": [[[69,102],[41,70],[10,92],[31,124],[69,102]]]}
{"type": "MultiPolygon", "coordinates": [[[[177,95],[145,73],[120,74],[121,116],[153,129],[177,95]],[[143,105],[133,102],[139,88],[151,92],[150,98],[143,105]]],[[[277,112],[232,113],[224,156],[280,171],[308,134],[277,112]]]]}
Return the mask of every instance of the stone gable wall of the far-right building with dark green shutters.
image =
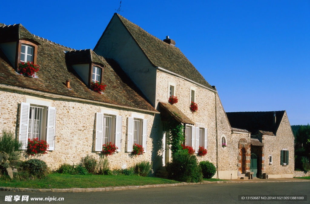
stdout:
{"type": "Polygon", "coordinates": [[[263,138],[265,172],[269,173],[269,175],[294,174],[294,136],[290,129],[290,123],[286,113],[279,125],[276,137],[263,136],[263,138]],[[289,164],[287,166],[280,164],[282,149],[289,151],[289,164]],[[272,164],[268,162],[269,155],[272,155],[272,164]]]}

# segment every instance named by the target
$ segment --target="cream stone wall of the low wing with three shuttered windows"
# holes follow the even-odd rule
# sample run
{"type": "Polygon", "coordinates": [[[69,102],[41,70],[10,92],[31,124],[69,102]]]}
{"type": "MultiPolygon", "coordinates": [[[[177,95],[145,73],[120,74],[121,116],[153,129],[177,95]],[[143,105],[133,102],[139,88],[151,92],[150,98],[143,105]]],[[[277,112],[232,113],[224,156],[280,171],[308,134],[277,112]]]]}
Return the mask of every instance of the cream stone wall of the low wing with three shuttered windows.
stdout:
{"type": "Polygon", "coordinates": [[[159,156],[159,148],[161,148],[161,141],[159,140],[161,140],[161,138],[158,138],[158,132],[154,131],[158,129],[157,124],[159,124],[159,121],[158,117],[157,121],[154,121],[154,114],[152,113],[139,111],[133,112],[132,110],[124,108],[111,108],[111,106],[99,106],[98,104],[1,89],[0,120],[3,122],[0,123],[0,129],[6,128],[17,133],[19,127],[18,110],[20,103],[24,102],[24,97],[31,97],[37,100],[49,100],[51,106],[57,108],[55,150],[49,151],[48,154],[38,157],[39,159],[46,161],[51,169],[56,169],[63,163],[77,164],[80,159],[87,154],[94,155],[98,159],[102,156],[101,154],[92,151],[95,113],[99,112],[100,108],[118,111],[123,119],[122,151],[108,156],[111,168],[131,167],[136,162],[142,160],[153,162],[161,160],[161,157],[159,156]],[[131,153],[125,152],[127,117],[131,116],[131,113],[144,115],[144,118],[148,119],[147,152],[137,157],[131,155],[131,153]]]}

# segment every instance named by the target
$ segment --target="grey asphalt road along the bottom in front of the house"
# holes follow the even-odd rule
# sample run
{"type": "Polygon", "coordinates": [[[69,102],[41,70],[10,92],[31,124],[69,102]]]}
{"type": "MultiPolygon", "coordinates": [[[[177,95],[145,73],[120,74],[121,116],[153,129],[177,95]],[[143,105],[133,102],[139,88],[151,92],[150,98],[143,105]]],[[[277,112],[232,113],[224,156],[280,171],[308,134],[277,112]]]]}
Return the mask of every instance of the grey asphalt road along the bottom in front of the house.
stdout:
{"type": "Polygon", "coordinates": [[[0,191],[0,203],[310,203],[310,182],[201,184],[89,193],[37,193],[0,191]],[[5,196],[13,196],[5,201],[5,196]],[[20,200],[14,201],[19,195],[20,200]],[[29,195],[29,201],[21,201],[29,195]],[[307,195],[307,201],[238,201],[238,195],[307,195]],[[31,201],[31,198],[64,198],[63,201],[31,201]]]}

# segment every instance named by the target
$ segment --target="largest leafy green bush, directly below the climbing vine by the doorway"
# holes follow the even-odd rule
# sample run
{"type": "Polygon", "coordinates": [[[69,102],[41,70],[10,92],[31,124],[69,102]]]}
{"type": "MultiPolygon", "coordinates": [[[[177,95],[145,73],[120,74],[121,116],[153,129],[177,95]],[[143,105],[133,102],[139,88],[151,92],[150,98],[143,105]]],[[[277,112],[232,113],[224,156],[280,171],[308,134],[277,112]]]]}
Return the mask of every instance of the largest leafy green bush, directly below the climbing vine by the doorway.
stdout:
{"type": "Polygon", "coordinates": [[[201,182],[202,172],[198,165],[197,157],[189,155],[188,150],[180,150],[172,157],[172,161],[166,165],[169,179],[181,182],[201,182]]]}

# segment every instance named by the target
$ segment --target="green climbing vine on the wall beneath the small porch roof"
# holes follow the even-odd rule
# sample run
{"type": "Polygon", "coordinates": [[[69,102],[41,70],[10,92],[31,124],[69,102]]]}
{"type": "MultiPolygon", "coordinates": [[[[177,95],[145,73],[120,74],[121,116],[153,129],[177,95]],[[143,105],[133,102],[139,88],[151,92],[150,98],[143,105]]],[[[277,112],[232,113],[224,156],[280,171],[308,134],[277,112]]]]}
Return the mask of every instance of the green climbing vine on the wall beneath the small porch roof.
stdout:
{"type": "Polygon", "coordinates": [[[171,145],[171,154],[174,155],[182,147],[184,141],[184,126],[176,121],[172,116],[169,116],[168,121],[165,123],[167,144],[171,145]]]}

